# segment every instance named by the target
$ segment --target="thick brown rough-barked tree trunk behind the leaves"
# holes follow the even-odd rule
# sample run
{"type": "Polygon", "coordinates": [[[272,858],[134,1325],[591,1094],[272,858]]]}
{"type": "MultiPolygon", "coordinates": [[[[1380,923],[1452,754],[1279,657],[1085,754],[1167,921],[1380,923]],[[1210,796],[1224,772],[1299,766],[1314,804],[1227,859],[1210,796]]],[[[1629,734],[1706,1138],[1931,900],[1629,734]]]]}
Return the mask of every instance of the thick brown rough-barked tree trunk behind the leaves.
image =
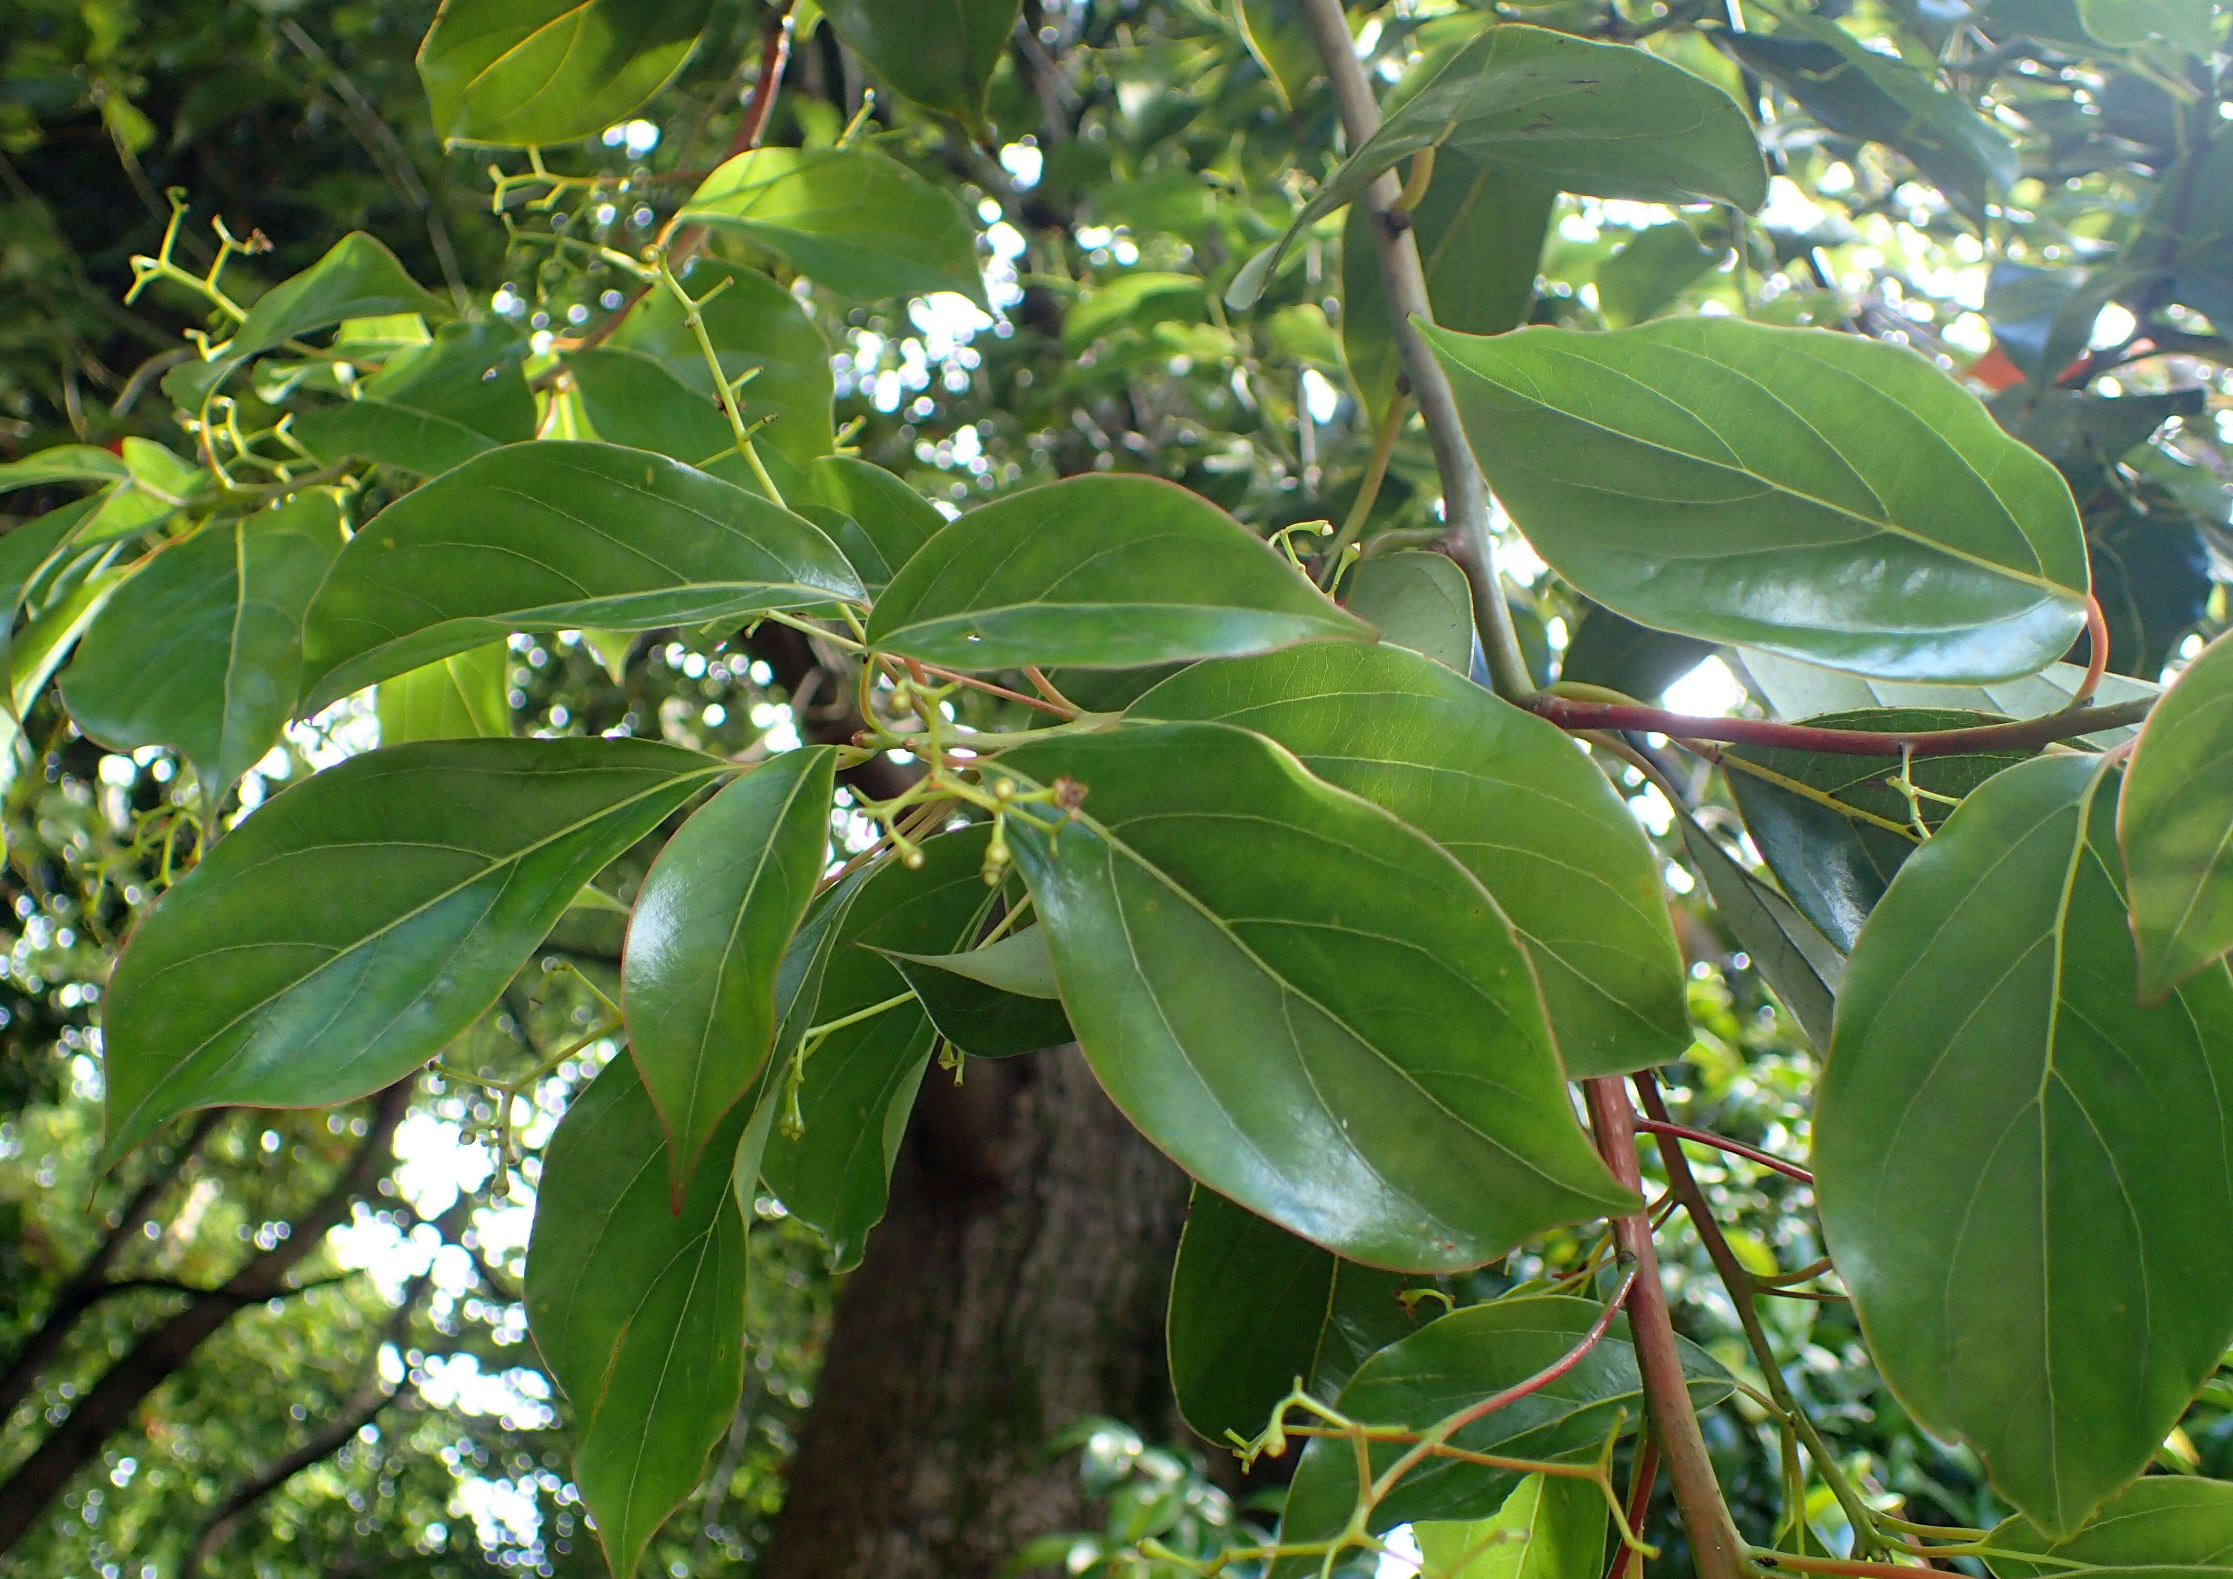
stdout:
{"type": "Polygon", "coordinates": [[[1099,1528],[1081,1414],[1179,1432],[1163,1300],[1186,1179],[1076,1047],[931,1070],[891,1213],[837,1304],[761,1579],[991,1579],[1099,1528]]]}

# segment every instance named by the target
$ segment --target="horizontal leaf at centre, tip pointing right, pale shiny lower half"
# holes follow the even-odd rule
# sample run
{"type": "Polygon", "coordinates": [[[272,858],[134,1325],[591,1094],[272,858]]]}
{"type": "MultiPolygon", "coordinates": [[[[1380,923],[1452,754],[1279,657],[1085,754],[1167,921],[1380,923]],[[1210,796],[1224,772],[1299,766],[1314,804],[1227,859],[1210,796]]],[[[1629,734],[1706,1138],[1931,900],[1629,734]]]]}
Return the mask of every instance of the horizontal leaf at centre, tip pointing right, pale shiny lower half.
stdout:
{"type": "Polygon", "coordinates": [[[1369,634],[1217,505],[1143,476],[971,509],[869,616],[871,648],[967,670],[1137,668],[1369,634]]]}

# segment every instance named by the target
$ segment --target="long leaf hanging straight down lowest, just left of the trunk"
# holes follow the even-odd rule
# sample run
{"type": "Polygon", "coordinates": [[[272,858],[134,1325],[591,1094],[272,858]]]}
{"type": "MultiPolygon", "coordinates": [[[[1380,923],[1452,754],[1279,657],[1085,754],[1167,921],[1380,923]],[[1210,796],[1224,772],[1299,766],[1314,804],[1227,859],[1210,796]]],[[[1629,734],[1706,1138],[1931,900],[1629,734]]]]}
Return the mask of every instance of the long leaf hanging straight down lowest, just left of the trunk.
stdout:
{"type": "MultiPolygon", "coordinates": [[[[744,1119],[723,1126],[730,1150],[744,1119]]],[[[527,1327],[574,1403],[574,1485],[616,1579],[697,1490],[744,1391],[746,1233],[728,1170],[699,1168],[670,1202],[665,1150],[616,1056],[543,1152],[527,1242],[527,1327]]]]}

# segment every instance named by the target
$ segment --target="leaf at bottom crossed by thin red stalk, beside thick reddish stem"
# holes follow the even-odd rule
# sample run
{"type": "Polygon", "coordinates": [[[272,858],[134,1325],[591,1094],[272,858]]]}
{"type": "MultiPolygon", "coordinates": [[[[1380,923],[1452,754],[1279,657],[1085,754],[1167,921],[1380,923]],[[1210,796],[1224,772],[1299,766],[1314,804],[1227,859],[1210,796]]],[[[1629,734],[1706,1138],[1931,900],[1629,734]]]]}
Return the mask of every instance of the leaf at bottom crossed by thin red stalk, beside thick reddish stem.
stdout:
{"type": "MultiPolygon", "coordinates": [[[[1597,1300],[1565,1295],[1469,1304],[1369,1358],[1342,1389],[1335,1409],[1367,1425],[1427,1429],[1565,1358],[1603,1311],[1597,1300]]],[[[1681,1338],[1675,1342],[1690,1376],[1690,1403],[1708,1407],[1726,1398],[1728,1371],[1704,1349],[1681,1338]]],[[[1635,1423],[1641,1414],[1637,1351],[1628,1340],[1628,1318],[1617,1315],[1610,1331],[1565,1376],[1474,1420],[1449,1441],[1501,1458],[1581,1463],[1603,1447],[1619,1420],[1635,1423]]],[[[1373,1474],[1384,1472],[1402,1452],[1402,1443],[1376,1443],[1373,1474]]],[[[1518,1490],[1521,1478],[1516,1470],[1427,1458],[1373,1508],[1369,1528],[1380,1534],[1420,1519],[1480,1519],[1494,1514],[1518,1490]]],[[[1344,1438],[1311,1438],[1286,1490],[1280,1539],[1333,1539],[1349,1523],[1355,1501],[1355,1447],[1344,1438]]],[[[1317,1561],[1286,1557],[1271,1572],[1273,1579],[1300,1579],[1317,1572],[1317,1561]]]]}

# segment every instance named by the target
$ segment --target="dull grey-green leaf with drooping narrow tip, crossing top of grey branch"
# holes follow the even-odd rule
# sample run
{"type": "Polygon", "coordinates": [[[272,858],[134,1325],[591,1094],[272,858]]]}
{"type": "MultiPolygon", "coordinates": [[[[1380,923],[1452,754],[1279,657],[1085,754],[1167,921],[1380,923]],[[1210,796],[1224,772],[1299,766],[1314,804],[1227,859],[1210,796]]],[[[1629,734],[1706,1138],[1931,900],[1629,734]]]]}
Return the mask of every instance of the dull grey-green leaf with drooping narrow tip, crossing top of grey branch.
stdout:
{"type": "Polygon", "coordinates": [[[1297,235],[1422,147],[1590,197],[1744,210],[1769,197],[1753,127],[1713,83],[1632,45],[1505,22],[1483,29],[1380,123],[1235,277],[1226,304],[1250,306],[1297,235]]]}

